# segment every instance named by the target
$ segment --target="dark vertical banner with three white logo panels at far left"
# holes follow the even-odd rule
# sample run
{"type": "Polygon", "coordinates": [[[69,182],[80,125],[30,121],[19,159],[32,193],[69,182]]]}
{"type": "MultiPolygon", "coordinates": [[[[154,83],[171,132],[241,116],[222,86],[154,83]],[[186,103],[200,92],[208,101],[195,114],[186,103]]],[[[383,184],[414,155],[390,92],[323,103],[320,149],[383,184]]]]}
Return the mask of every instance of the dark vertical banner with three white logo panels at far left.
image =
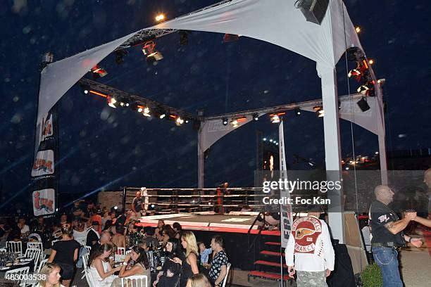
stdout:
{"type": "Polygon", "coordinates": [[[56,106],[37,124],[35,158],[32,165],[32,207],[35,216],[56,212],[58,189],[58,117],[56,106]]]}

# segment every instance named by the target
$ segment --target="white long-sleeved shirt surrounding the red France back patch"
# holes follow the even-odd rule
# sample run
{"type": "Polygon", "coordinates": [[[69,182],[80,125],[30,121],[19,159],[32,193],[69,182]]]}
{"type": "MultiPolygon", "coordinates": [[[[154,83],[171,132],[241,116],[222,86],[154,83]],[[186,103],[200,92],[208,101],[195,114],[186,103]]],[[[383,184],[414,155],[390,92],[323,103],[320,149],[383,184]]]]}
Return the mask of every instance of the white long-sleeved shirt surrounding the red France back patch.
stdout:
{"type": "MultiPolygon", "coordinates": [[[[318,219],[317,217],[314,218],[318,219]]],[[[290,234],[285,251],[287,266],[294,265],[295,270],[308,272],[334,270],[335,253],[334,248],[332,248],[329,229],[323,220],[320,220],[320,224],[322,232],[317,238],[314,253],[295,253],[295,236],[290,234]],[[319,253],[320,255],[318,255],[319,253]]]]}

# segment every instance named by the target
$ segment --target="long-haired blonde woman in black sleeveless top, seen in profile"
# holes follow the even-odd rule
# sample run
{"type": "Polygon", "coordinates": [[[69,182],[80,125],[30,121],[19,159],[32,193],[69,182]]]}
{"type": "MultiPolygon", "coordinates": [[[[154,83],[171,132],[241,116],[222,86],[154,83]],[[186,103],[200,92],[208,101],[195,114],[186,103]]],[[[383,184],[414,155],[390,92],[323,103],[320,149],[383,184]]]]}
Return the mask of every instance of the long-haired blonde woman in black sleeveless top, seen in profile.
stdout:
{"type": "Polygon", "coordinates": [[[180,258],[178,257],[175,257],[171,260],[175,263],[182,264],[180,287],[185,287],[187,286],[187,280],[194,274],[199,273],[199,269],[197,266],[197,257],[199,252],[196,243],[196,237],[194,237],[192,231],[182,231],[181,245],[182,248],[186,250],[185,261],[180,260],[180,258]]]}

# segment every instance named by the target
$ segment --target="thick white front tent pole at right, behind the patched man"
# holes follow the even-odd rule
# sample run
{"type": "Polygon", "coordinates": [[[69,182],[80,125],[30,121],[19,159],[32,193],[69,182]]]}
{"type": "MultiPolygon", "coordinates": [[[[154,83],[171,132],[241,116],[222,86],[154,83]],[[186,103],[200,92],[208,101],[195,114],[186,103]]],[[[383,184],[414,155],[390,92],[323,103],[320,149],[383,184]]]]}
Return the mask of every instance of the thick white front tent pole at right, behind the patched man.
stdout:
{"type": "MultiPolygon", "coordinates": [[[[337,75],[334,68],[320,66],[319,75],[322,82],[322,100],[325,116],[325,165],[327,181],[341,180],[341,144],[339,136],[339,110],[337,95],[337,75]]],[[[344,243],[343,191],[333,190],[328,193],[331,200],[328,206],[328,217],[332,236],[344,243]]]]}

